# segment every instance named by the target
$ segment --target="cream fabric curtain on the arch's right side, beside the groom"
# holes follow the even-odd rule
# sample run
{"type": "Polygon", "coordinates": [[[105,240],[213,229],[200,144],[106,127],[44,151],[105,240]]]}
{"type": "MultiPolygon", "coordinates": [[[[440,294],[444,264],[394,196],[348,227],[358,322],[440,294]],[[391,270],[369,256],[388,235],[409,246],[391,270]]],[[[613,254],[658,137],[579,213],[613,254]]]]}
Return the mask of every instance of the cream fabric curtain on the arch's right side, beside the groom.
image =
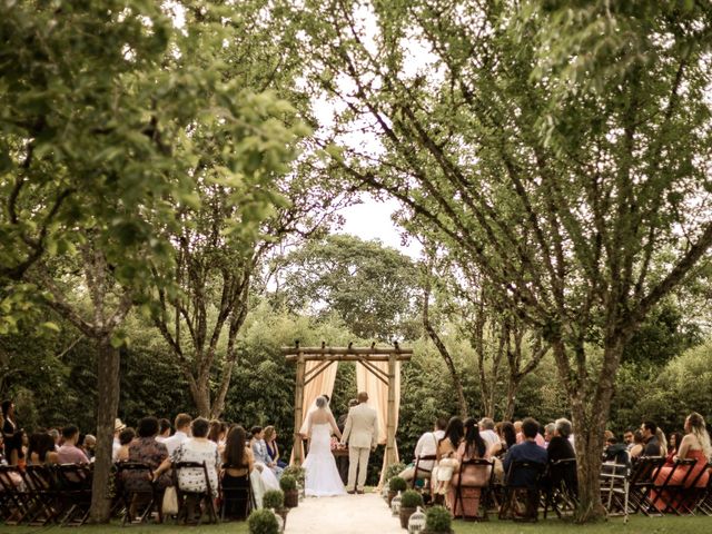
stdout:
{"type": "MultiPolygon", "coordinates": [[[[388,376],[388,362],[370,362],[370,365],[383,370],[388,376]]],[[[395,429],[398,431],[398,413],[400,411],[400,362],[396,362],[396,376],[394,380],[395,400],[396,400],[396,421],[394,421],[395,429]]],[[[359,392],[368,394],[368,404],[378,414],[378,444],[385,445],[388,438],[388,385],[376,378],[376,376],[366,368],[365,365],[356,364],[356,387],[359,392]]],[[[395,457],[398,462],[398,444],[394,441],[395,457]]],[[[380,469],[380,479],[378,487],[383,486],[384,476],[386,474],[386,455],[383,455],[383,467],[380,469]]]]}

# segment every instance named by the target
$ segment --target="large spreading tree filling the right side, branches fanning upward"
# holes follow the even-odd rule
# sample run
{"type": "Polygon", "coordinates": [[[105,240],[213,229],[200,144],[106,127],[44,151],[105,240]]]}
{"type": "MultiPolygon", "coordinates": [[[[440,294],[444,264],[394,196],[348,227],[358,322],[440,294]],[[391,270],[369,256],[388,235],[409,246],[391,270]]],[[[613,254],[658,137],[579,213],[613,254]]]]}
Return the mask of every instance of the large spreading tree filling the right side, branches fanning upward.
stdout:
{"type": "Polygon", "coordinates": [[[623,347],[712,244],[711,9],[334,0],[305,13],[314,83],[344,109],[325,142],[356,125],[378,139],[345,144],[335,175],[398,198],[551,344],[580,521],[603,513],[623,347]]]}

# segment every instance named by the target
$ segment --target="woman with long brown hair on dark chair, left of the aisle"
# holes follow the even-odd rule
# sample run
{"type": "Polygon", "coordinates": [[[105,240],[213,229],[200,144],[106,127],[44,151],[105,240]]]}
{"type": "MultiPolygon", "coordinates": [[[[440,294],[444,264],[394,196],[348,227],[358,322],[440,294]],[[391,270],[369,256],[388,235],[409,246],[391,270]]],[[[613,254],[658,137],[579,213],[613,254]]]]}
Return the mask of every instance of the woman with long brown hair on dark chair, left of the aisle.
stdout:
{"type": "Polygon", "coordinates": [[[247,433],[241,426],[234,426],[227,435],[222,452],[222,502],[225,515],[233,520],[246,520],[249,510],[249,485],[253,482],[255,500],[261,507],[265,493],[261,484],[255,482],[261,478],[258,473],[250,476],[255,468],[253,452],[247,446],[247,433]],[[255,478],[255,481],[251,481],[255,478]],[[259,498],[257,498],[259,495],[259,498]]]}

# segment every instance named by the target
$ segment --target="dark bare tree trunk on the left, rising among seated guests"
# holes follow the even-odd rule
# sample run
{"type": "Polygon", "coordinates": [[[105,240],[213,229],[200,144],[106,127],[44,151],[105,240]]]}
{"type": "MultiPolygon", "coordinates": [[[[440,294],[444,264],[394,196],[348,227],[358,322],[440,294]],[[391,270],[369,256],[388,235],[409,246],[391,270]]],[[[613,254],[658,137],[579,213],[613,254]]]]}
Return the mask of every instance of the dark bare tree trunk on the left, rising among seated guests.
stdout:
{"type": "Polygon", "coordinates": [[[97,339],[97,458],[91,485],[92,523],[107,523],[111,514],[109,495],[113,421],[119,408],[119,352],[111,346],[108,335],[97,339]]]}

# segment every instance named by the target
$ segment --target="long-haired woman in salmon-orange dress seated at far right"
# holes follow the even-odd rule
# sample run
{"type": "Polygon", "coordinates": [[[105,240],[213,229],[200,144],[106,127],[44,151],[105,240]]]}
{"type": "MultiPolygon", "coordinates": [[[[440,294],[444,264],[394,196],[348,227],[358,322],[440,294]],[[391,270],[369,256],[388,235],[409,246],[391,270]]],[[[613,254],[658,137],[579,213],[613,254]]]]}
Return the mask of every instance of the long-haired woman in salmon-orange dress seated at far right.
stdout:
{"type": "MultiPolygon", "coordinates": [[[[671,465],[662,466],[657,472],[657,476],[655,476],[656,486],[662,485],[670,476],[670,472],[674,469],[668,484],[680,485],[684,479],[684,487],[691,487],[700,473],[704,472],[700,479],[696,481],[695,487],[706,487],[710,478],[706,467],[708,462],[712,459],[712,445],[710,445],[710,435],[708,434],[704,418],[696,412],[690,414],[685,419],[685,436],[680,442],[676,458],[692,458],[696,462],[692,465],[680,465],[676,468],[671,465]]],[[[660,512],[665,512],[670,500],[657,497],[659,495],[655,491],[651,492],[651,501],[653,501],[655,507],[660,512]]],[[[682,502],[678,502],[678,505],[682,504],[682,502]]]]}

